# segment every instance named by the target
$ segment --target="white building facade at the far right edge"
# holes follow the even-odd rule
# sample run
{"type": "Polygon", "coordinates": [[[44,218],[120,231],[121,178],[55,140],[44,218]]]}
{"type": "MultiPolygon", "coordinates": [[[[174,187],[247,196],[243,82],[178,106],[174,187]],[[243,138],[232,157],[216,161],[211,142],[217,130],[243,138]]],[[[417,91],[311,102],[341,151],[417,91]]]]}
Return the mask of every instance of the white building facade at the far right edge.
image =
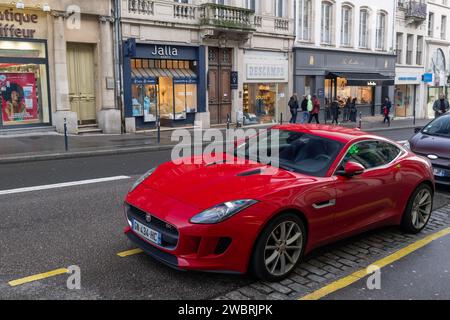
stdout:
{"type": "Polygon", "coordinates": [[[446,0],[428,0],[425,71],[429,75],[425,97],[425,117],[434,118],[433,103],[444,93],[450,96],[450,4],[446,0]]]}

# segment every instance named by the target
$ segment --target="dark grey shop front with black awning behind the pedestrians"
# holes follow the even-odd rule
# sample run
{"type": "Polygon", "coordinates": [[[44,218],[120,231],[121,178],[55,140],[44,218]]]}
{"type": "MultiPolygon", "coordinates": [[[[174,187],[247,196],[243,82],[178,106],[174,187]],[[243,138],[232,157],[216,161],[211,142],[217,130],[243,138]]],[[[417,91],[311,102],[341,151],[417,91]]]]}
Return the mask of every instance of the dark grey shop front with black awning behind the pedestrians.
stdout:
{"type": "Polygon", "coordinates": [[[358,113],[374,116],[394,98],[394,55],[297,48],[295,60],[295,91],[317,95],[325,110],[334,99],[356,99],[358,113]]]}

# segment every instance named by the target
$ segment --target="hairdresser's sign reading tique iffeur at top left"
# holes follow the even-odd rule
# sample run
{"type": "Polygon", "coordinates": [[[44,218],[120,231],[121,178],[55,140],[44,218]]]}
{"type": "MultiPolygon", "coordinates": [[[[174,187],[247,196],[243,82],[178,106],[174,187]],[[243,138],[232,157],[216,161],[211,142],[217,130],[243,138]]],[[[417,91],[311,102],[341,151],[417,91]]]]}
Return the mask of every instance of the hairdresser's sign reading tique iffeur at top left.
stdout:
{"type": "Polygon", "coordinates": [[[38,15],[14,12],[13,9],[0,11],[0,37],[34,38],[36,29],[25,28],[24,24],[38,23],[38,15]]]}

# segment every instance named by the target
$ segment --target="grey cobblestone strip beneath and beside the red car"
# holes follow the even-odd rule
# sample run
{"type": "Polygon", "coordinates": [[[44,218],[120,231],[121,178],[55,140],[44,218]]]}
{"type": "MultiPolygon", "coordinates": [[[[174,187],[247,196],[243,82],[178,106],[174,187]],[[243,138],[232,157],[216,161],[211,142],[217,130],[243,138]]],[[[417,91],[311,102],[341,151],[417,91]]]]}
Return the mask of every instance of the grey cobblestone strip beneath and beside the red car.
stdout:
{"type": "Polygon", "coordinates": [[[216,300],[297,299],[448,226],[450,205],[435,210],[428,226],[418,235],[389,227],[349,238],[315,250],[286,280],[279,283],[255,282],[216,300]]]}

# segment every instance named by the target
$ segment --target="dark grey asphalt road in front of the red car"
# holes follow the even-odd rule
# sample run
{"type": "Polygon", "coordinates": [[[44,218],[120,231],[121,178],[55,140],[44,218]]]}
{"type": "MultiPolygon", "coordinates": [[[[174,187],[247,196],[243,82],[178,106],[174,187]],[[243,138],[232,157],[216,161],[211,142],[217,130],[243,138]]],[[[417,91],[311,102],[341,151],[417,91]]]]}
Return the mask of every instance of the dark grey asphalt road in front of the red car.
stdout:
{"type": "MultiPolygon", "coordinates": [[[[407,138],[401,130],[383,134],[407,138]]],[[[0,299],[209,299],[250,283],[245,276],[174,271],[146,255],[117,256],[135,248],[122,233],[125,194],[138,175],[169,158],[161,151],[0,165],[0,190],[130,176],[0,195],[0,299]],[[67,275],[7,284],[72,265],[81,268],[81,290],[67,290],[67,275]]],[[[449,202],[449,190],[439,190],[435,206],[449,202]]]]}

